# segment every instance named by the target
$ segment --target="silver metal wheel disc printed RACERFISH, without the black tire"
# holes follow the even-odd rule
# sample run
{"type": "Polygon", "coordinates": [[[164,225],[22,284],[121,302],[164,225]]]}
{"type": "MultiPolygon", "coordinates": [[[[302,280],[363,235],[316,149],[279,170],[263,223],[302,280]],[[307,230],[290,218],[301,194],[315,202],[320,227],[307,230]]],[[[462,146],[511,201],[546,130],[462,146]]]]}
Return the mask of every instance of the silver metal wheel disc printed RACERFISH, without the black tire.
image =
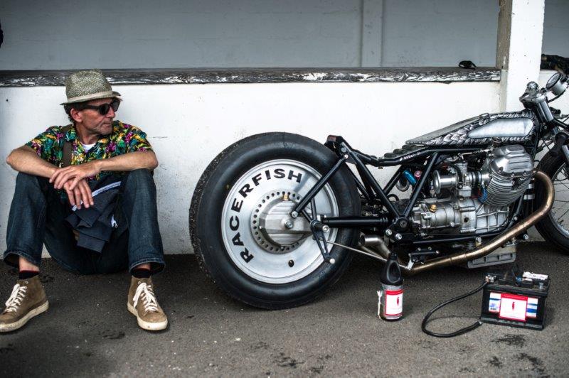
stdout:
{"type": "MultiPolygon", "coordinates": [[[[251,168],[228,188],[220,219],[221,237],[228,257],[240,271],[267,284],[288,284],[324,263],[308,222],[302,215],[290,216],[299,198],[304,198],[320,177],[307,163],[275,159],[251,168]]],[[[319,215],[339,216],[329,184],[314,202],[319,215]]],[[[311,205],[305,210],[311,214],[311,205]]],[[[337,234],[332,228],[326,239],[334,241],[337,234]]]]}

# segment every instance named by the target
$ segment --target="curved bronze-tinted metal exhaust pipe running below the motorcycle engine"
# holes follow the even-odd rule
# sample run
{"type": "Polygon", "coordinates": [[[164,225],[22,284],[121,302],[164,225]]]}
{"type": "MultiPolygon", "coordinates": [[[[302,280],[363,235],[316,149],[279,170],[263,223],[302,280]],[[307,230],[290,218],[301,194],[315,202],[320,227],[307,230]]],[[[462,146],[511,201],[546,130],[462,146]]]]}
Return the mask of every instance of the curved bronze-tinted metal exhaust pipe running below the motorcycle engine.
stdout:
{"type": "MultiPolygon", "coordinates": [[[[536,171],[536,173],[533,174],[533,177],[536,178],[537,180],[541,180],[541,183],[543,183],[545,187],[546,198],[543,202],[543,205],[541,205],[541,207],[535,212],[532,212],[531,215],[529,215],[525,220],[520,222],[518,225],[515,225],[511,229],[506,230],[504,233],[499,234],[490,242],[476,249],[473,249],[472,251],[457,252],[447,257],[432,259],[430,261],[425,262],[425,264],[421,264],[418,266],[410,266],[410,265],[405,266],[403,264],[400,264],[403,273],[409,276],[413,276],[414,274],[418,274],[422,271],[439,268],[441,266],[464,264],[469,260],[484,257],[490,252],[504,245],[512,237],[518,236],[519,234],[525,232],[526,229],[528,229],[529,227],[535,225],[539,220],[541,220],[541,218],[547,215],[549,210],[551,210],[551,207],[553,206],[553,199],[555,193],[553,190],[553,183],[551,182],[551,178],[549,178],[548,175],[546,175],[542,171],[536,171]]],[[[364,244],[364,245],[368,245],[369,247],[376,247],[376,249],[378,249],[378,252],[381,253],[382,257],[385,254],[385,249],[389,251],[388,247],[385,245],[385,243],[383,243],[383,240],[381,240],[381,238],[376,237],[373,239],[368,239],[368,242],[369,244],[364,244]]]]}

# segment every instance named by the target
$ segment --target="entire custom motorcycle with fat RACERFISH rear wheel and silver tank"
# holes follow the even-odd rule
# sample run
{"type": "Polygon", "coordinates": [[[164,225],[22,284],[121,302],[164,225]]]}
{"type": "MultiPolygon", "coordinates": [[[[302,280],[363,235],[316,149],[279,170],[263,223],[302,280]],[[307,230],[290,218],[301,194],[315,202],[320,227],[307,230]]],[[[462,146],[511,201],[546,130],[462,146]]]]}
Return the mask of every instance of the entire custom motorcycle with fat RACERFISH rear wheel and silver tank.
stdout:
{"type": "Polygon", "coordinates": [[[341,136],[324,145],[287,133],[242,139],[193,194],[198,261],[239,301],[288,308],[334,284],[353,252],[381,261],[395,252],[404,274],[477,268],[514,261],[536,225],[568,253],[569,125],[549,107],[566,87],[560,73],[546,88],[530,82],[522,111],[466,119],[381,157],[341,136]],[[398,168],[382,187],[370,167],[386,166],[398,168]]]}

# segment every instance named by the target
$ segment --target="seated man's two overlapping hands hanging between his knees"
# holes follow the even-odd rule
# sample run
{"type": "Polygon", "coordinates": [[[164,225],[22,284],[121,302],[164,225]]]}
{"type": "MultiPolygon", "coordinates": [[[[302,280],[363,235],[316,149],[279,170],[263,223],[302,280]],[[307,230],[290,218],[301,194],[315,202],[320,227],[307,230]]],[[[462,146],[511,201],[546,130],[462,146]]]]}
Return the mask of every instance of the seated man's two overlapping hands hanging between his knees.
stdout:
{"type": "Polygon", "coordinates": [[[80,209],[83,205],[88,208],[94,205],[95,201],[86,178],[97,175],[97,173],[100,173],[97,161],[90,161],[77,166],[56,168],[49,182],[53,183],[53,188],[65,190],[71,206],[77,206],[80,209]]]}

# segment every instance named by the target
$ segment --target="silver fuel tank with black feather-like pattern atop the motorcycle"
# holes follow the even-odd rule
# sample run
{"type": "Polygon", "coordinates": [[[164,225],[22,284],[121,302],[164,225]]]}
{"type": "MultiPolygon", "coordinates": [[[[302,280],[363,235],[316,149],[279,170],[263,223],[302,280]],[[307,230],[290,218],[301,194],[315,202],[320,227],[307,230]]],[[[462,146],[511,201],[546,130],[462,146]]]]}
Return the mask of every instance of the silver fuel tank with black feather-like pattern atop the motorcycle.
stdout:
{"type": "Polygon", "coordinates": [[[481,114],[405,142],[424,146],[476,146],[500,138],[504,143],[523,143],[536,130],[536,115],[531,110],[481,114]]]}

